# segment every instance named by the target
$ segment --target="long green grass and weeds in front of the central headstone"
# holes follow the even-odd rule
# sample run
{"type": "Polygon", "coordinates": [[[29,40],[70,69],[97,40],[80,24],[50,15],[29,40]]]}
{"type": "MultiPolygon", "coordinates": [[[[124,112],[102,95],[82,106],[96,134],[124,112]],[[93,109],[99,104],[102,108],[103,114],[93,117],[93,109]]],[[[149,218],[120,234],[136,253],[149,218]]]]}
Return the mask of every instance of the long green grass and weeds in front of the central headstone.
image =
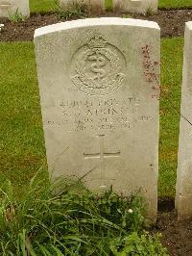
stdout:
{"type": "Polygon", "coordinates": [[[167,255],[159,235],[143,230],[139,194],[99,196],[80,182],[50,185],[39,175],[19,200],[9,181],[0,192],[0,255],[167,255]]]}

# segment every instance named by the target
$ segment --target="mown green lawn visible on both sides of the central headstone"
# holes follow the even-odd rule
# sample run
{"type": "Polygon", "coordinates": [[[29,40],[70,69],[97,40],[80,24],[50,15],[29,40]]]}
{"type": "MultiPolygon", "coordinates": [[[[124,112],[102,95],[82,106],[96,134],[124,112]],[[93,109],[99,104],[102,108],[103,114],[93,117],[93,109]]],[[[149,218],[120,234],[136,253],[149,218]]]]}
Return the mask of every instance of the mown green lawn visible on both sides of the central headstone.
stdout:
{"type": "MultiPolygon", "coordinates": [[[[183,38],[161,40],[159,196],[175,194],[183,38]]],[[[40,167],[46,172],[32,42],[0,43],[0,182],[9,178],[18,194],[40,167]]]]}

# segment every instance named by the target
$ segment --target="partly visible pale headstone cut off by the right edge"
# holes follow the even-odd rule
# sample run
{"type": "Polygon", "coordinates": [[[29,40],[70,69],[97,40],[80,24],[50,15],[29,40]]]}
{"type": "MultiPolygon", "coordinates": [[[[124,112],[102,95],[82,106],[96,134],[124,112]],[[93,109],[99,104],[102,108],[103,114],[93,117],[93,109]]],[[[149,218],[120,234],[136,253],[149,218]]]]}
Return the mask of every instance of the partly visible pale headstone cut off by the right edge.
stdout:
{"type": "Polygon", "coordinates": [[[182,76],[176,190],[176,208],[180,219],[192,218],[192,22],[185,25],[182,76]]]}

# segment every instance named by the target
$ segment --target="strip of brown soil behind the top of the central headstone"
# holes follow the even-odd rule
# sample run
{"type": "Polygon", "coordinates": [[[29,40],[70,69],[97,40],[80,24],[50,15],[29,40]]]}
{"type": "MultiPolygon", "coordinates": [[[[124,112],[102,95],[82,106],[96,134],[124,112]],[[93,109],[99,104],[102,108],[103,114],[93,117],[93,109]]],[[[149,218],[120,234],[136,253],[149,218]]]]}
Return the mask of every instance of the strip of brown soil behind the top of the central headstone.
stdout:
{"type": "MultiPolygon", "coordinates": [[[[192,20],[192,10],[159,10],[153,15],[130,13],[91,13],[87,16],[127,16],[140,19],[154,20],[161,29],[161,37],[171,38],[183,36],[184,23],[192,20]]],[[[77,19],[72,16],[71,19],[77,19]]],[[[64,21],[57,13],[32,14],[24,22],[12,22],[6,18],[0,18],[0,23],[5,25],[0,32],[0,41],[33,40],[36,28],[64,21]]]]}

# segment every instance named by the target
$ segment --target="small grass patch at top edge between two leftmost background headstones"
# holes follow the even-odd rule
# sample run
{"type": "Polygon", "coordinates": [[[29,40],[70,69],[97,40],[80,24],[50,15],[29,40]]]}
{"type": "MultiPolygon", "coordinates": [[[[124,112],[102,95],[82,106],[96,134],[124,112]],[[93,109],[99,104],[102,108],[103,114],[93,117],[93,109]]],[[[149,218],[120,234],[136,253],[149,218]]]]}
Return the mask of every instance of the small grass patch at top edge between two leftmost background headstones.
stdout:
{"type": "Polygon", "coordinates": [[[30,0],[31,13],[54,12],[58,9],[58,0],[30,0]]]}

